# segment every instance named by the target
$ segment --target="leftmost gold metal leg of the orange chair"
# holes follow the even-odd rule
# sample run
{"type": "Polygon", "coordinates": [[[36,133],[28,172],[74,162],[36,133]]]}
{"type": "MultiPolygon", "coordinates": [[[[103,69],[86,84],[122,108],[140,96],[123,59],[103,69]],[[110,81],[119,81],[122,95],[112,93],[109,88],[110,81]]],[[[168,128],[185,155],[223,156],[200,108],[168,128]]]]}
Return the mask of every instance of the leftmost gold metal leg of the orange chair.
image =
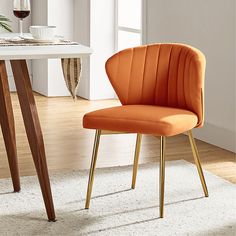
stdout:
{"type": "Polygon", "coordinates": [[[96,168],[100,136],[101,136],[101,130],[96,130],[95,139],[94,139],[94,146],[93,146],[93,155],[92,155],[90,172],[89,172],[89,181],[88,181],[85,209],[89,209],[89,205],[90,205],[90,199],[91,199],[92,188],[93,188],[93,180],[94,180],[94,171],[96,168]]]}

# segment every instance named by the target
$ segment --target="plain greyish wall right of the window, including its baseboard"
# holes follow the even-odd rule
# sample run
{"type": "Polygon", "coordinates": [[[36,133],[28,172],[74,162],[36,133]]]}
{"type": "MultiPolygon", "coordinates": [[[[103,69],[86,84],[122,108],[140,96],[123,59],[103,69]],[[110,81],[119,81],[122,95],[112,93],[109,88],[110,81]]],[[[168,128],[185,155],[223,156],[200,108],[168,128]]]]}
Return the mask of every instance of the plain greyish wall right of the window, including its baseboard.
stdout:
{"type": "Polygon", "coordinates": [[[147,41],[204,52],[205,126],[196,137],[236,152],[235,0],[148,0],[147,41]]]}

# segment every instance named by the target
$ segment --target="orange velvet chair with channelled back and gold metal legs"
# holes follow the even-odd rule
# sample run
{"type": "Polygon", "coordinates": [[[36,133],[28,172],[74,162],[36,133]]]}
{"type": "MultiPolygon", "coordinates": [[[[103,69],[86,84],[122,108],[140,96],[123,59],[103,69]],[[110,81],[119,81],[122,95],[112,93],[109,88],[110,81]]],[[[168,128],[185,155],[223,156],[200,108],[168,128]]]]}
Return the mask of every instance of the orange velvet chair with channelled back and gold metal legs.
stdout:
{"type": "Polygon", "coordinates": [[[136,133],[132,188],[135,188],[142,134],[160,136],[160,217],[164,209],[165,139],[188,132],[205,196],[208,196],[191,130],[203,126],[205,57],[183,44],[152,44],[120,51],[106,62],[108,78],[122,106],[85,114],[83,126],[96,129],[85,208],[90,205],[100,136],[136,133]]]}

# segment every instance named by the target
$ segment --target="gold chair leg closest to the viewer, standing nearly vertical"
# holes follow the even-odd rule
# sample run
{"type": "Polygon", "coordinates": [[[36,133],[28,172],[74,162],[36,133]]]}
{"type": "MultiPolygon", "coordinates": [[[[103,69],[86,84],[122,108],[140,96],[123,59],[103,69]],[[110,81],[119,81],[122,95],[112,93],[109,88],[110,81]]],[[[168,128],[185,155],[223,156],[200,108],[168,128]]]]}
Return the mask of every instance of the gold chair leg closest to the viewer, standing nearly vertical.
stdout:
{"type": "Polygon", "coordinates": [[[164,192],[165,192],[165,142],[166,138],[161,136],[160,139],[160,176],[159,176],[159,200],[160,200],[160,217],[164,216],[164,192]]]}

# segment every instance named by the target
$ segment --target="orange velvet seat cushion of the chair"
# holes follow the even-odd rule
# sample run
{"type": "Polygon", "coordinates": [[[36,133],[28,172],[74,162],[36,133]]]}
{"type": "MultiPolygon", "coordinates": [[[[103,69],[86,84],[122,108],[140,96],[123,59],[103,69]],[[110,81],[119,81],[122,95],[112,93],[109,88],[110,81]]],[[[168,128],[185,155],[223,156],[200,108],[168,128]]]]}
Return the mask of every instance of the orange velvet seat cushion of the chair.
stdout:
{"type": "Polygon", "coordinates": [[[85,114],[83,126],[160,136],[173,136],[191,130],[198,123],[191,111],[152,105],[125,105],[85,114]]]}

